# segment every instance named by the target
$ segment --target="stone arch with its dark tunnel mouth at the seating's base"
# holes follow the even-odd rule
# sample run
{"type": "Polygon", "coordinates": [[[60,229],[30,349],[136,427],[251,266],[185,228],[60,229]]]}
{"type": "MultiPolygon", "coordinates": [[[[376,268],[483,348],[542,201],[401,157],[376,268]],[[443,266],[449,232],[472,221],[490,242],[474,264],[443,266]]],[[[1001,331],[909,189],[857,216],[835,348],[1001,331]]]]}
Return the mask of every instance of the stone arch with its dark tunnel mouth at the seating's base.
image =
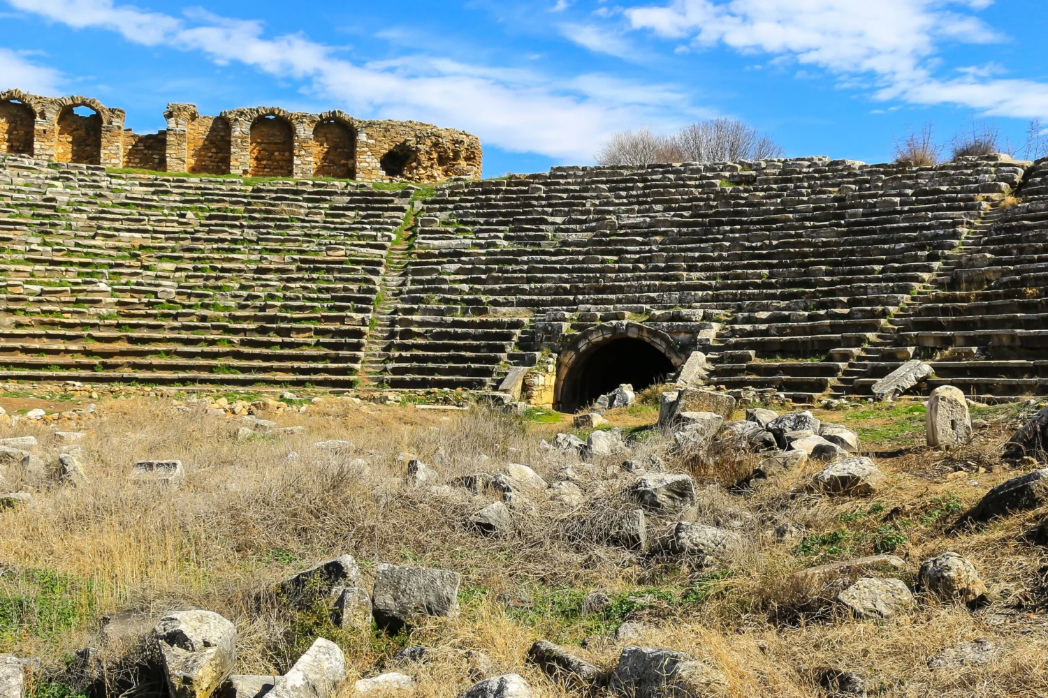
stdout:
{"type": "Polygon", "coordinates": [[[619,383],[641,390],[676,373],[686,358],[670,335],[645,324],[595,325],[573,337],[561,352],[553,407],[573,412],[619,383]]]}

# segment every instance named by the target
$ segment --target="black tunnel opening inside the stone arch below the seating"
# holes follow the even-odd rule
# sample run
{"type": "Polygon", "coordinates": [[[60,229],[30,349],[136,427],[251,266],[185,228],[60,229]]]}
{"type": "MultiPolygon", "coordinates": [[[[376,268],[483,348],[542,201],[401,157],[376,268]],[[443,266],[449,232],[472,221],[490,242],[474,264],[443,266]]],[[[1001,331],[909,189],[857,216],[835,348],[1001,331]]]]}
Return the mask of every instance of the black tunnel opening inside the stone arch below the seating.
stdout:
{"type": "Polygon", "coordinates": [[[580,357],[568,367],[558,409],[574,412],[620,383],[630,383],[639,392],[676,370],[664,354],[645,340],[614,339],[580,357]]]}

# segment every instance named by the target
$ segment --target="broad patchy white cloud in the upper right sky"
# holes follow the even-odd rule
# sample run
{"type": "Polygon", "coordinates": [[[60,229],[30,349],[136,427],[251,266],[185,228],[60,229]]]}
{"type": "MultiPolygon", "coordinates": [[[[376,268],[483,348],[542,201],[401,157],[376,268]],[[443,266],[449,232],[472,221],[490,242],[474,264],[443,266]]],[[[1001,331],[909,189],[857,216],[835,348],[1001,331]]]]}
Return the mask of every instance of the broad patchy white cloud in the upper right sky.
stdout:
{"type": "Polygon", "coordinates": [[[966,14],[992,0],[673,0],[634,6],[624,15],[646,29],[697,48],[724,45],[741,53],[789,59],[838,76],[843,86],[872,88],[882,99],[955,104],[987,114],[1048,116],[1048,85],[995,78],[1000,68],[958,69],[936,76],[939,43],[985,44],[1002,37],[966,14]]]}

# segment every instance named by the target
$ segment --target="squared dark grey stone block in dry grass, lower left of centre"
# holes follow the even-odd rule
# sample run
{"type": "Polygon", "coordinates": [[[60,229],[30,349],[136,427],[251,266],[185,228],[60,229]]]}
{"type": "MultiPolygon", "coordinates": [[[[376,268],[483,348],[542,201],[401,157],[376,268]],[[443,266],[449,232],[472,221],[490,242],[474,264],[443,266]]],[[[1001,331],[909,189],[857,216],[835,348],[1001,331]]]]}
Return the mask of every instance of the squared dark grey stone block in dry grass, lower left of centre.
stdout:
{"type": "Polygon", "coordinates": [[[414,615],[458,615],[458,572],[380,564],[372,604],[379,627],[396,631],[414,615]]]}

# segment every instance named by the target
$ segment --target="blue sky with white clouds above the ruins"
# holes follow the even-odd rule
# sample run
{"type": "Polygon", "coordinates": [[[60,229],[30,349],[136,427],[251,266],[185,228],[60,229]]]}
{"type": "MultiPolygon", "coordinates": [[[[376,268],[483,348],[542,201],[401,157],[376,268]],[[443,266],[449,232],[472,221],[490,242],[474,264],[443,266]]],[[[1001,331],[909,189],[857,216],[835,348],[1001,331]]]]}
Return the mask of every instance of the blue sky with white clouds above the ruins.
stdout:
{"type": "Polygon", "coordinates": [[[480,136],[485,176],[588,163],[616,131],[741,118],[789,156],[891,158],[910,130],[1048,128],[1036,0],[0,0],[0,89],[162,129],[341,108],[480,136]]]}

